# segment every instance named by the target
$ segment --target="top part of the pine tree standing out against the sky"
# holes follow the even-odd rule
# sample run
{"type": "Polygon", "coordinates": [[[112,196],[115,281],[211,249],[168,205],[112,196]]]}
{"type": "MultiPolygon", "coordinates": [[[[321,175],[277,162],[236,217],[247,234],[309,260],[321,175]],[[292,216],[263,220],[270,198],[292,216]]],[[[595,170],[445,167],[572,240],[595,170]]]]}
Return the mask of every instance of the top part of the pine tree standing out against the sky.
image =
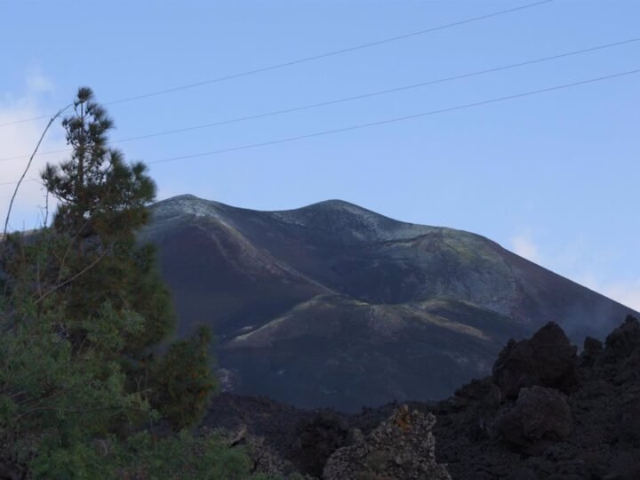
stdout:
{"type": "Polygon", "coordinates": [[[71,158],[60,167],[47,164],[42,173],[47,190],[60,201],[54,227],[77,236],[81,248],[92,236],[102,243],[131,239],[148,221],[145,206],[156,196],[156,185],[144,164],[127,165],[119,150],[107,147],[113,121],[93,101],[91,89],[78,91],[74,108],[75,115],[62,122],[71,158]]]}

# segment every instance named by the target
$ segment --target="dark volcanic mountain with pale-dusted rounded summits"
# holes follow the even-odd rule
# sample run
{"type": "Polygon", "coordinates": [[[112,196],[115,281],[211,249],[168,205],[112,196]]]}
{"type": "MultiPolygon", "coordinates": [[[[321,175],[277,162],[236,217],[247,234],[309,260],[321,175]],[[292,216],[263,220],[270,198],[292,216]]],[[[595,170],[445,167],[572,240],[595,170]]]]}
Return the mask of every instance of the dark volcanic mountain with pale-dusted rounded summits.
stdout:
{"type": "Polygon", "coordinates": [[[449,396],[548,321],[603,337],[630,308],[452,228],[338,200],[258,212],[176,196],[152,207],[179,335],[209,324],[223,385],[356,411],[449,396]]]}

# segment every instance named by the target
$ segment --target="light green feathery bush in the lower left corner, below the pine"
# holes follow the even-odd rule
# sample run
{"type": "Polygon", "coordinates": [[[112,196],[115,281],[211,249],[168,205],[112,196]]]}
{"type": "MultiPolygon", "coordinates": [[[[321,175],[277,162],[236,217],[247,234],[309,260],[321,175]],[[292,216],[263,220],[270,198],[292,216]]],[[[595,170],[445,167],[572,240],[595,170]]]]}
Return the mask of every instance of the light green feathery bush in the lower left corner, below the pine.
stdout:
{"type": "MultiPolygon", "coordinates": [[[[60,322],[60,309],[47,307],[33,315],[33,302],[20,300],[0,323],[0,463],[36,465],[65,458],[80,475],[83,468],[72,460],[94,436],[157,414],[142,392],[124,388],[124,373],[114,360],[122,332],[100,330],[117,322],[112,308],[105,305],[87,323],[100,342],[76,348],[60,322]]],[[[137,328],[135,322],[121,326],[137,328]]]]}

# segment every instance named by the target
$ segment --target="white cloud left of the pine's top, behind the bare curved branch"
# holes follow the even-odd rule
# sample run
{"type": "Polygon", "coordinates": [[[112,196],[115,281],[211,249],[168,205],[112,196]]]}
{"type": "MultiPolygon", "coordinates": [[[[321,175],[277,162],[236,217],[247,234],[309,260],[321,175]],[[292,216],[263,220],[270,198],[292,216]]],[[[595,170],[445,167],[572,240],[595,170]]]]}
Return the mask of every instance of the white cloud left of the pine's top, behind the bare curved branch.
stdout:
{"type": "MultiPolygon", "coordinates": [[[[20,175],[28,162],[27,158],[4,160],[14,156],[29,156],[37,141],[44,132],[47,120],[20,122],[26,118],[47,115],[42,106],[41,96],[52,91],[52,83],[41,74],[34,74],[26,81],[27,92],[20,96],[1,92],[0,97],[0,183],[13,182],[20,175]],[[13,123],[20,122],[20,123],[13,123]],[[13,123],[13,124],[12,124],[13,123]]],[[[52,125],[40,146],[39,151],[65,148],[64,135],[60,123],[52,125]]],[[[36,156],[29,168],[25,180],[39,179],[39,172],[47,161],[60,160],[60,156],[36,156]]],[[[0,233],[4,228],[4,219],[15,185],[0,185],[0,233]]],[[[11,229],[34,228],[41,223],[42,214],[39,207],[44,206],[44,192],[35,181],[24,182],[20,186],[18,196],[12,207],[10,219],[11,229]]],[[[52,205],[50,205],[52,206],[52,205]]]]}

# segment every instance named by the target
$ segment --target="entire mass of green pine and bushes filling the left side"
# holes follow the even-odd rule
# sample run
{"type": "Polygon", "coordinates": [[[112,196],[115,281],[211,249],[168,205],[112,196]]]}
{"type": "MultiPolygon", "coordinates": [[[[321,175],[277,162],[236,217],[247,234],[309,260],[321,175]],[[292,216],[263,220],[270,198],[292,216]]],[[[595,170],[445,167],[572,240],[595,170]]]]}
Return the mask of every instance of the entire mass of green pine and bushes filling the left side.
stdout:
{"type": "Polygon", "coordinates": [[[63,122],[71,158],[43,180],[51,228],[0,244],[0,476],[248,478],[219,438],[156,439],[193,425],[215,388],[205,330],[157,352],[174,314],[155,252],[135,231],[155,185],[107,148],[112,122],[89,89],[63,122]]]}

